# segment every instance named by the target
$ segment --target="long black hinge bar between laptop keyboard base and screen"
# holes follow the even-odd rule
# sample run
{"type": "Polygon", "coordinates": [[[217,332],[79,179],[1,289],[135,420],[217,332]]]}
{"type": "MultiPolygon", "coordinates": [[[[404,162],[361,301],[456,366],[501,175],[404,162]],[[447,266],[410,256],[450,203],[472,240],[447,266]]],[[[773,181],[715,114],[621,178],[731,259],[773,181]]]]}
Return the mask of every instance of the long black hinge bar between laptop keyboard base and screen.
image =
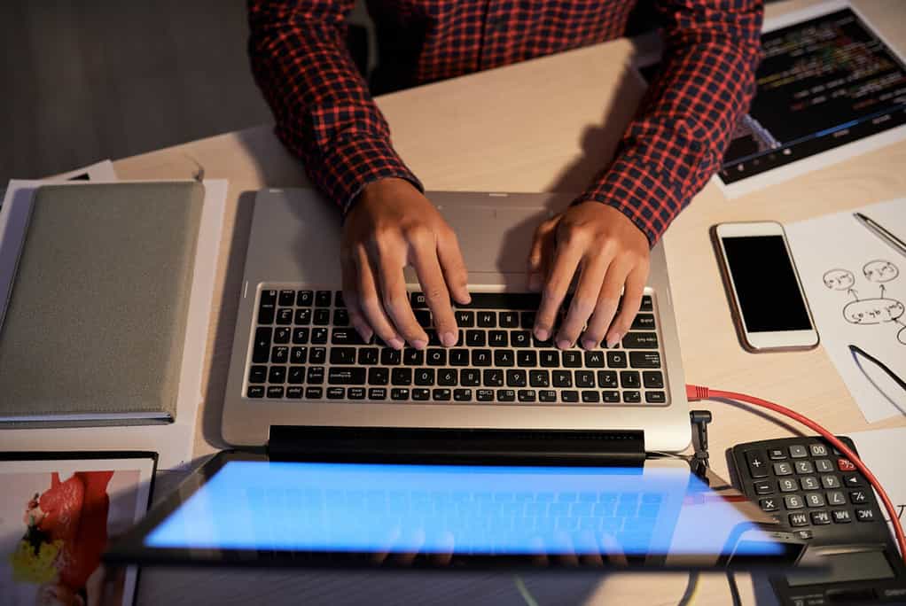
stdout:
{"type": "Polygon", "coordinates": [[[272,426],[271,460],[639,466],[644,432],[272,426]]]}

